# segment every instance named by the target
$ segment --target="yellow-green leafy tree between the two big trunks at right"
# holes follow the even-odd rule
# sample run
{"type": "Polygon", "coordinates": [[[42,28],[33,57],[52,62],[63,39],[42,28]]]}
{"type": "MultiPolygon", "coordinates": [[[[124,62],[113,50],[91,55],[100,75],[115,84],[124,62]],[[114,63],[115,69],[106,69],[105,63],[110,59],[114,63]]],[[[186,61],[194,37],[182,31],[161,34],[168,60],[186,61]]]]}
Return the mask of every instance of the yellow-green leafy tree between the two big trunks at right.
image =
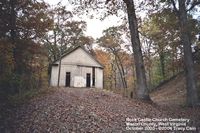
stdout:
{"type": "Polygon", "coordinates": [[[163,9],[162,11],[149,14],[143,20],[140,28],[140,33],[143,36],[143,40],[145,40],[143,51],[146,51],[147,54],[150,51],[152,53],[148,54],[147,56],[149,57],[147,58],[155,59],[156,56],[159,56],[162,80],[174,76],[175,69],[180,68],[180,66],[175,67],[176,61],[178,61],[178,58],[181,58],[178,55],[181,47],[179,45],[180,32],[177,27],[178,23],[175,14],[170,9],[163,9]]]}

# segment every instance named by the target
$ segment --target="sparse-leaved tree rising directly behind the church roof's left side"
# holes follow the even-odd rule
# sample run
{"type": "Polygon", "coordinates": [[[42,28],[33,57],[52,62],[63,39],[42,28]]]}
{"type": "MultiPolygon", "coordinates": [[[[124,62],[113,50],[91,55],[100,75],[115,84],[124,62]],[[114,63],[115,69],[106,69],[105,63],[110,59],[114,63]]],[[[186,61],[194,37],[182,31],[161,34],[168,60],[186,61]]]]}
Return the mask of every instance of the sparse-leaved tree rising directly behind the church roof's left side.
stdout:
{"type": "Polygon", "coordinates": [[[73,20],[72,12],[60,3],[49,10],[48,15],[54,21],[53,27],[42,41],[48,50],[50,64],[76,45],[92,44],[93,38],[84,35],[87,27],[85,21],[73,20]]]}

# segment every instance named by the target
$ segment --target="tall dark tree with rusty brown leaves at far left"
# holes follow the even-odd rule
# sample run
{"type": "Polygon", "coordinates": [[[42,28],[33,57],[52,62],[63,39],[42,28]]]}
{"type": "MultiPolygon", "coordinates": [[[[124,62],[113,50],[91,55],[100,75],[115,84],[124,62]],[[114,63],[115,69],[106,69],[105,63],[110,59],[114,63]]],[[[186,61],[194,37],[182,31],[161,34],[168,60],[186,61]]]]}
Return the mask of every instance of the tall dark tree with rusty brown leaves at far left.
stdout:
{"type": "Polygon", "coordinates": [[[38,61],[38,56],[45,57],[39,40],[48,32],[52,22],[47,7],[45,2],[35,0],[0,2],[0,42],[6,51],[0,64],[5,64],[1,68],[9,75],[4,82],[5,91],[20,92],[39,87],[40,76],[35,70],[36,66],[42,70],[45,63],[38,61]],[[5,68],[6,64],[10,67],[5,68]]]}

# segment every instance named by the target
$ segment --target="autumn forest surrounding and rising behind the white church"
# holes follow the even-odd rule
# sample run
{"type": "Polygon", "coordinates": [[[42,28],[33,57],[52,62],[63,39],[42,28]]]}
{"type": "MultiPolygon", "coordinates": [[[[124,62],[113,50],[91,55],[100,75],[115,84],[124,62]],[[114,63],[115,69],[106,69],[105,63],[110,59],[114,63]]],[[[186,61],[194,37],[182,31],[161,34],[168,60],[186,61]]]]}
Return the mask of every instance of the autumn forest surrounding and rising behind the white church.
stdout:
{"type": "MultiPolygon", "coordinates": [[[[198,103],[200,18],[198,0],[0,2],[0,91],[23,94],[47,88],[51,64],[83,45],[104,65],[104,89],[149,99],[156,86],[185,71],[188,105],[198,103]],[[145,16],[137,16],[145,12],[145,16]],[[82,15],[104,20],[116,15],[121,24],[102,36],[86,35],[82,15]]],[[[95,29],[94,29],[95,30],[95,29]]]]}

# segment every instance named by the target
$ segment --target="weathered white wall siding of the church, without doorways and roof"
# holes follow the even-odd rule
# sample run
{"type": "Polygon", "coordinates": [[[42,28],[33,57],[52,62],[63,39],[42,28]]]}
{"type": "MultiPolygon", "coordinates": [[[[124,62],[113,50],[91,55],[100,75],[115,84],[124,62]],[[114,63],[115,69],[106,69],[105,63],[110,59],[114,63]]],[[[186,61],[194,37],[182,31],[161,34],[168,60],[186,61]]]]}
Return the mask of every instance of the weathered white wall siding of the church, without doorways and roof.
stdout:
{"type": "MultiPolygon", "coordinates": [[[[56,63],[58,64],[58,61],[56,63]]],[[[90,86],[92,87],[92,67],[95,67],[95,87],[103,88],[103,69],[99,68],[102,66],[81,48],[62,58],[59,86],[65,86],[66,72],[70,72],[71,87],[86,87],[87,73],[91,75],[90,86]],[[79,81],[75,81],[75,79],[79,81]]],[[[57,86],[58,68],[58,66],[52,66],[51,86],[57,86]]]]}

